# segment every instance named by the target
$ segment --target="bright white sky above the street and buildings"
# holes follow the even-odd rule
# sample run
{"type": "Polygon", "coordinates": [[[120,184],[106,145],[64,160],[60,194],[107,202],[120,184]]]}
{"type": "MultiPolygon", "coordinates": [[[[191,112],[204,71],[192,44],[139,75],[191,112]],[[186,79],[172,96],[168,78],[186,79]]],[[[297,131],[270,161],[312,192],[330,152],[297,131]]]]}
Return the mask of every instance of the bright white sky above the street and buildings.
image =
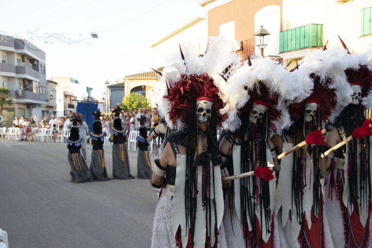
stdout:
{"type": "Polygon", "coordinates": [[[203,0],[0,0],[0,31],[30,39],[46,52],[47,79],[78,78],[100,99],[125,75],[150,71],[160,38],[205,15],[203,0]],[[44,33],[97,32],[91,45],[46,44],[44,33]]]}

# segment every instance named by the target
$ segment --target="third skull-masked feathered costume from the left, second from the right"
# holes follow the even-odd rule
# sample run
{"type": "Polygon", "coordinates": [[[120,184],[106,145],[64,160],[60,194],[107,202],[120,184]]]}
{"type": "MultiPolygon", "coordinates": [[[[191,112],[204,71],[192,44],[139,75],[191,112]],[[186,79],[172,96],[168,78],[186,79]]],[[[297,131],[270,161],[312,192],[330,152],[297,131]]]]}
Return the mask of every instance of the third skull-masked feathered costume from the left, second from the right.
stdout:
{"type": "MultiPolygon", "coordinates": [[[[314,52],[292,72],[294,79],[304,83],[310,80],[313,89],[308,98],[288,106],[293,124],[281,136],[283,151],[303,142],[313,131],[321,130],[344,107],[342,89],[347,82],[342,77],[342,66],[334,60],[337,52],[314,52]]],[[[322,139],[316,144],[327,146],[322,139]]],[[[321,179],[326,176],[321,173],[322,149],[321,145],[306,145],[280,161],[275,213],[280,216],[284,246],[333,247],[321,191],[321,179]]]]}

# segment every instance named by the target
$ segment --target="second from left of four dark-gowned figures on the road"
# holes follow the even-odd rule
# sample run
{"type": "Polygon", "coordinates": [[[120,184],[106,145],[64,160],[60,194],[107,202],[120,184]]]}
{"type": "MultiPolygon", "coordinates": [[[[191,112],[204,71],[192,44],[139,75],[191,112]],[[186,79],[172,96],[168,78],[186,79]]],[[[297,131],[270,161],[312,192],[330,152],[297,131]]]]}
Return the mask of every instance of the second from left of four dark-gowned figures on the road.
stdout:
{"type": "Polygon", "coordinates": [[[89,132],[89,137],[92,140],[92,160],[90,162],[90,172],[92,173],[93,180],[107,181],[107,170],[104,162],[103,143],[106,133],[102,133],[102,123],[100,120],[101,112],[98,109],[92,113],[95,117],[93,122],[93,132],[89,132]]]}

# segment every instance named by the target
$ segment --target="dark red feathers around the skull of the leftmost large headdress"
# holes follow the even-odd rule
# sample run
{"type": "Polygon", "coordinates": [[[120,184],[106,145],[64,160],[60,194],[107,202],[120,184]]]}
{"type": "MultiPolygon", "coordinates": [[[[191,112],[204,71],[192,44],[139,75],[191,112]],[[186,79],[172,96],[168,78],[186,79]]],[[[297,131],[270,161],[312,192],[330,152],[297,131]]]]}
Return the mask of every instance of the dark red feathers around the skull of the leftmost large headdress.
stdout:
{"type": "Polygon", "coordinates": [[[219,88],[207,73],[202,75],[181,75],[181,80],[176,82],[174,87],[169,85],[169,96],[164,96],[164,98],[169,99],[171,102],[169,118],[172,120],[173,125],[177,124],[176,120],[178,118],[182,122],[186,122],[186,115],[191,112],[198,97],[212,99],[217,115],[217,123],[220,124],[223,118],[227,118],[227,116],[220,114],[220,109],[223,108],[223,102],[218,92],[219,88]]]}

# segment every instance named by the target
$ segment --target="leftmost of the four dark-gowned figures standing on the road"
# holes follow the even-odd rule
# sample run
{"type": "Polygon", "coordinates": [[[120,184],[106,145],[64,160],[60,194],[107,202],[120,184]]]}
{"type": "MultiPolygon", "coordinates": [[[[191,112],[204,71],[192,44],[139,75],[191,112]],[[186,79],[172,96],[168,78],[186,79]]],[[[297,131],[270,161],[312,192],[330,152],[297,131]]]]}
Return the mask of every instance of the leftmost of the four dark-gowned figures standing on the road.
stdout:
{"type": "Polygon", "coordinates": [[[70,129],[70,136],[65,139],[68,149],[68,162],[70,164],[70,175],[72,182],[92,182],[92,174],[80,154],[83,137],[79,136],[79,129],[76,127],[77,119],[72,117],[73,127],[70,129]]]}

